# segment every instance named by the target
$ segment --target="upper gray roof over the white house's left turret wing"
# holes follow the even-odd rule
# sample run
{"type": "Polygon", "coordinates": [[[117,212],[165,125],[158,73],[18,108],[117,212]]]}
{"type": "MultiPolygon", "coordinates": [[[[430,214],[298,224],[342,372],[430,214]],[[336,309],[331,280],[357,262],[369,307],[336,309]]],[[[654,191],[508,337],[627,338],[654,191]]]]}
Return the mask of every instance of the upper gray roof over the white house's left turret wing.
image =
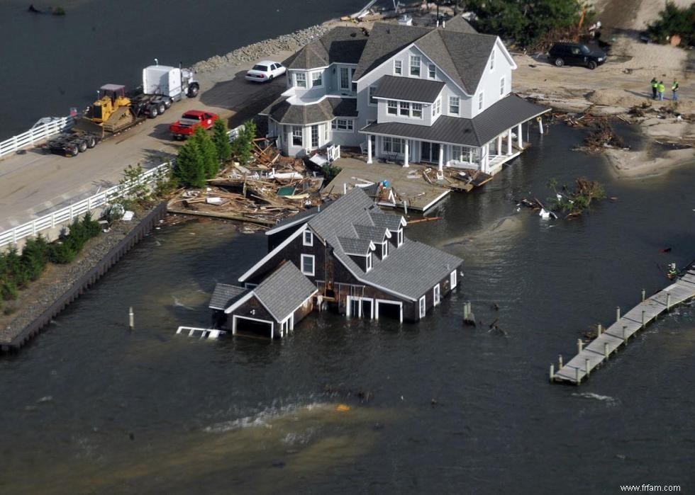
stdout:
{"type": "Polygon", "coordinates": [[[361,28],[338,27],[304,46],[287,60],[289,69],[326,67],[333,62],[357,64],[365,49],[367,35],[361,28]]]}

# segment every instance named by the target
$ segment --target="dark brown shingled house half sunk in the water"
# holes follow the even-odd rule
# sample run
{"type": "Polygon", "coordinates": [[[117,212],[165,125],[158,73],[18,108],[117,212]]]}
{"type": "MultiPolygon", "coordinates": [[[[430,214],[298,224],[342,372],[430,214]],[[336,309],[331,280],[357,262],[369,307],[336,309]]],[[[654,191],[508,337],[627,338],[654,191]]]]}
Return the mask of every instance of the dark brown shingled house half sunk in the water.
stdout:
{"type": "Polygon", "coordinates": [[[266,232],[269,252],[218,284],[210,303],[233,333],[283,336],[315,305],[348,317],[417,321],[458,285],[463,260],[404,236],[406,221],[361,188],[266,232]]]}

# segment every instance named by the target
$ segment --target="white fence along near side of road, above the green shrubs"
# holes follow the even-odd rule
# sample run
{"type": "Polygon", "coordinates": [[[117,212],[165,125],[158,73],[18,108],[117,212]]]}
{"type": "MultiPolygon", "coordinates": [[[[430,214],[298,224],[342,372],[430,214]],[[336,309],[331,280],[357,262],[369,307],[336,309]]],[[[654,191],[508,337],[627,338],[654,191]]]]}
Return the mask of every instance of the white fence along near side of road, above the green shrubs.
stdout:
{"type": "MultiPolygon", "coordinates": [[[[168,169],[169,162],[156,166],[154,169],[147,170],[140,176],[138,183],[152,183],[152,181],[157,179],[158,174],[167,172],[168,169]]],[[[26,222],[26,224],[21,224],[11,230],[0,232],[0,249],[5,246],[10,246],[11,244],[17,244],[21,239],[35,236],[44,230],[55,228],[57,225],[72,222],[74,218],[79,217],[79,215],[84,215],[84,213],[91,210],[104,207],[111,203],[111,201],[127,195],[133,186],[135,186],[134,183],[127,185],[118,184],[118,186],[113,186],[101,193],[97,193],[85,200],[78,201],[70,206],[39,217],[31,222],[26,222]]]]}

